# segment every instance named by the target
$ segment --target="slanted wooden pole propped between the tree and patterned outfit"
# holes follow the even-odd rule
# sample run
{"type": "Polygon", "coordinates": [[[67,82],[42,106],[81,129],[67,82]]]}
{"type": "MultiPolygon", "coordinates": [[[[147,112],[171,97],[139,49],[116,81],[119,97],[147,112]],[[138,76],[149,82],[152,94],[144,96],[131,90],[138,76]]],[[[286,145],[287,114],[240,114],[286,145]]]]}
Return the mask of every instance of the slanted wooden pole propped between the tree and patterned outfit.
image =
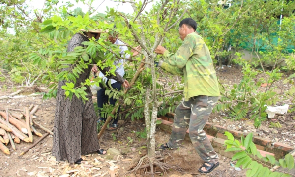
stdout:
{"type": "MultiPolygon", "coordinates": [[[[142,59],[142,60],[144,61],[145,58],[142,59]]],[[[136,71],[134,77],[132,78],[132,80],[131,80],[131,82],[130,82],[130,84],[129,84],[129,87],[128,87],[127,89],[125,89],[124,94],[126,94],[126,93],[131,89],[132,85],[133,85],[134,82],[137,80],[137,78],[138,78],[138,76],[140,75],[140,73],[144,70],[144,66],[145,66],[145,63],[141,63],[141,64],[140,64],[138,70],[136,71]]],[[[115,107],[114,107],[114,109],[113,109],[113,111],[112,111],[112,113],[111,113],[112,115],[115,115],[116,110],[118,109],[119,105],[120,105],[119,103],[117,103],[117,104],[115,105],[115,107]]],[[[98,136],[98,139],[100,139],[100,137],[101,137],[102,134],[104,133],[104,131],[105,131],[105,129],[107,128],[107,126],[108,126],[109,122],[111,121],[111,119],[112,119],[112,116],[109,116],[109,117],[107,118],[107,120],[105,121],[105,123],[104,123],[104,125],[102,126],[102,128],[101,128],[99,134],[97,135],[97,136],[98,136]]]]}

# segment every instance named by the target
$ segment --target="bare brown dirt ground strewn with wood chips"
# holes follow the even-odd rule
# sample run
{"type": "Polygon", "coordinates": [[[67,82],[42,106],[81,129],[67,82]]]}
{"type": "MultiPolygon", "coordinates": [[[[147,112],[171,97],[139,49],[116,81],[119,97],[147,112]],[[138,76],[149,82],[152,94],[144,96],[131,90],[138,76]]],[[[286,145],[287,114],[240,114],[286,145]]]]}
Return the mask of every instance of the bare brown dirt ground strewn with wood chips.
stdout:
{"type": "MultiPolygon", "coordinates": [[[[218,77],[221,80],[229,81],[229,85],[232,85],[233,83],[238,83],[241,80],[242,76],[240,73],[241,70],[239,69],[226,67],[226,69],[218,70],[218,77]]],[[[3,83],[0,83],[0,85],[0,89],[2,90],[0,92],[0,96],[9,95],[10,93],[16,91],[12,88],[3,88],[3,83]]],[[[282,89],[288,89],[290,86],[284,86],[284,84],[281,84],[281,87],[282,89]]],[[[32,90],[28,90],[27,93],[25,92],[22,94],[29,95],[31,92],[32,90]]],[[[2,99],[0,100],[0,109],[23,109],[23,107],[29,106],[30,104],[39,105],[39,110],[35,113],[36,118],[34,119],[44,127],[51,129],[54,124],[55,99],[42,101],[42,95],[20,97],[17,99],[2,99]]],[[[295,144],[293,134],[295,134],[295,123],[292,119],[294,116],[295,114],[288,113],[284,116],[276,118],[283,125],[283,128],[277,129],[278,133],[272,133],[274,129],[268,128],[270,120],[268,120],[266,123],[263,123],[259,129],[255,129],[253,126],[253,120],[228,121],[222,118],[224,117],[224,113],[215,113],[210,116],[209,122],[234,128],[240,131],[256,131],[259,136],[267,137],[273,139],[274,141],[276,141],[275,138],[277,138],[277,140],[280,142],[294,146],[295,144]]],[[[136,132],[141,132],[144,130],[144,124],[141,121],[131,122],[130,120],[119,120],[118,126],[119,127],[116,131],[105,131],[105,134],[101,137],[100,146],[104,149],[116,148],[121,151],[122,155],[111,156],[92,153],[85,157],[87,164],[83,165],[72,165],[66,162],[57,162],[55,161],[55,158],[51,156],[50,152],[41,154],[43,151],[52,148],[52,136],[50,135],[20,158],[18,157],[19,154],[31,144],[21,141],[20,144],[16,144],[16,151],[13,151],[9,144],[7,147],[11,152],[10,155],[5,155],[0,152],[0,177],[59,177],[71,170],[76,170],[74,172],[77,173],[76,176],[95,177],[95,175],[97,175],[99,177],[104,175],[104,177],[110,177],[110,174],[108,173],[110,168],[115,168],[116,176],[122,177],[127,170],[136,165],[139,158],[147,153],[147,150],[144,148],[144,146],[146,146],[145,139],[141,139],[136,136],[136,132]],[[130,138],[128,139],[127,137],[130,138]],[[130,142],[131,139],[132,142],[130,142]]],[[[42,134],[46,133],[38,127],[36,128],[42,134]]],[[[169,136],[169,133],[157,129],[156,145],[167,142],[169,136]]],[[[34,141],[37,139],[39,139],[39,137],[34,135],[34,141]]],[[[174,175],[174,177],[245,176],[245,170],[236,171],[234,167],[231,167],[230,159],[221,155],[219,155],[219,167],[217,167],[210,174],[199,174],[198,168],[203,164],[203,161],[198,156],[191,143],[188,141],[184,141],[182,147],[178,150],[169,150],[162,153],[166,157],[165,162],[178,166],[183,171],[167,171],[164,174],[157,174],[159,177],[169,177],[171,175],[174,175]]],[[[145,174],[145,171],[148,171],[148,169],[142,169],[141,171],[137,171],[136,173],[128,174],[126,176],[140,177],[140,174],[145,174]]],[[[62,177],[67,176],[63,175],[62,177]]]]}

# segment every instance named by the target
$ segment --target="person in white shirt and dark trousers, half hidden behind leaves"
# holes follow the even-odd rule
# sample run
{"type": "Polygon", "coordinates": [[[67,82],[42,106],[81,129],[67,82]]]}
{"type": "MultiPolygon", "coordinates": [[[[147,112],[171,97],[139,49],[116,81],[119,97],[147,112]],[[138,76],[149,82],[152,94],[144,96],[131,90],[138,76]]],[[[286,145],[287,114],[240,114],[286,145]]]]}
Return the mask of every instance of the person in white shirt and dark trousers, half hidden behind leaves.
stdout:
{"type": "MultiPolygon", "coordinates": [[[[116,28],[116,26],[114,26],[114,27],[116,28]]],[[[114,61],[114,65],[116,66],[116,72],[120,76],[123,77],[124,74],[125,74],[124,66],[123,66],[124,59],[127,59],[127,60],[131,59],[131,56],[129,54],[125,53],[125,51],[128,51],[128,48],[122,41],[118,40],[118,35],[116,35],[116,34],[109,35],[108,40],[112,44],[118,45],[118,48],[121,50],[120,51],[121,59],[117,59],[116,61],[114,61]]],[[[141,47],[137,46],[135,49],[140,51],[141,47]]],[[[139,54],[136,50],[134,50],[134,49],[131,50],[131,52],[133,53],[132,57],[135,57],[135,56],[137,56],[139,54]]],[[[92,68],[92,71],[94,73],[96,73],[98,71],[97,66],[94,66],[92,68]]],[[[99,77],[103,78],[103,81],[105,83],[110,81],[111,86],[112,86],[113,89],[117,89],[118,91],[121,90],[121,83],[117,82],[116,80],[114,80],[114,79],[109,80],[108,78],[105,77],[105,75],[102,72],[99,73],[99,77]]],[[[97,106],[98,106],[98,108],[103,108],[103,105],[107,104],[108,101],[110,101],[110,104],[113,105],[113,106],[116,104],[117,99],[114,99],[113,97],[111,97],[109,99],[109,97],[105,94],[105,90],[106,90],[105,88],[102,88],[102,89],[97,91],[97,106]]],[[[118,108],[118,112],[119,111],[120,111],[120,107],[118,108]]],[[[97,122],[101,123],[101,122],[106,121],[106,119],[107,118],[104,117],[104,114],[100,114],[100,118],[99,118],[99,120],[97,122]]],[[[118,127],[118,114],[117,114],[116,118],[113,118],[113,120],[111,120],[111,122],[112,123],[109,126],[109,130],[116,130],[116,128],[118,127]]]]}

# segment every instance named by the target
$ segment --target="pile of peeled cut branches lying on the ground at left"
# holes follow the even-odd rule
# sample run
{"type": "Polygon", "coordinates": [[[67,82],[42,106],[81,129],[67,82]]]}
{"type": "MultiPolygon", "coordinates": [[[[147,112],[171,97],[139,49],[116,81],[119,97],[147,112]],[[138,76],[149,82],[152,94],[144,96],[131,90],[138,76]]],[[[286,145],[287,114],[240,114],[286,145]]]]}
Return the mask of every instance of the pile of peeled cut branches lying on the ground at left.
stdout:
{"type": "Polygon", "coordinates": [[[38,110],[38,107],[38,105],[30,105],[29,108],[25,107],[23,112],[18,110],[20,113],[12,113],[9,109],[5,109],[5,112],[0,111],[0,150],[5,154],[10,154],[9,149],[6,147],[8,143],[11,144],[15,151],[16,148],[14,143],[20,143],[20,140],[27,143],[33,142],[32,133],[39,137],[43,136],[35,129],[33,126],[34,124],[53,135],[52,131],[33,120],[33,114],[38,110]]]}

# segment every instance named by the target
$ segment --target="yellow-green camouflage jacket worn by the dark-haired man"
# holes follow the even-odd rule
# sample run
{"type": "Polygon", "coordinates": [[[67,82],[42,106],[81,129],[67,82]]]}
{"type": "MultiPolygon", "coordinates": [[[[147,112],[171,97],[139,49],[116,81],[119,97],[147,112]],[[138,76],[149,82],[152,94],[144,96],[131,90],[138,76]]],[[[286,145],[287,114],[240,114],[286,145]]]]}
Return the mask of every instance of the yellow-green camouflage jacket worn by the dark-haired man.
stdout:
{"type": "Polygon", "coordinates": [[[218,81],[204,40],[197,33],[188,34],[173,54],[166,50],[161,67],[166,71],[184,76],[184,99],[199,95],[219,96],[218,81]]]}

